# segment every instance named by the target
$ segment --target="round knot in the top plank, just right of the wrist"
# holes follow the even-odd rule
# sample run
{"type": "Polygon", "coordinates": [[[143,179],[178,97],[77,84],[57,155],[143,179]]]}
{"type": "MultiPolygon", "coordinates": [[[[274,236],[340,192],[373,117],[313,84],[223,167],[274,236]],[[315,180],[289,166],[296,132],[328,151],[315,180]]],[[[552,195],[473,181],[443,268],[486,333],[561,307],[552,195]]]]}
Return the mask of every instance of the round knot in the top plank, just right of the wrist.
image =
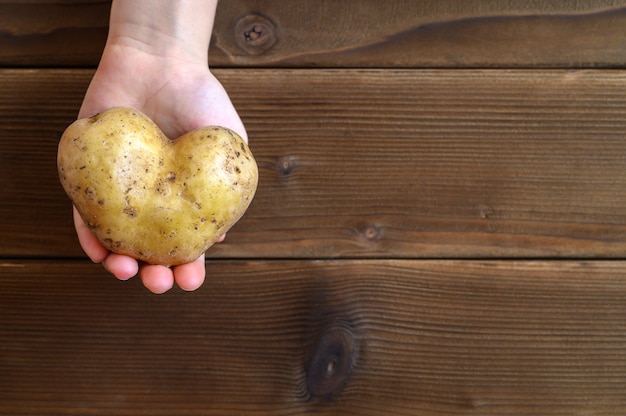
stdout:
{"type": "Polygon", "coordinates": [[[259,55],[276,43],[276,28],[264,16],[250,13],[239,18],[235,24],[237,44],[250,55],[259,55]]]}

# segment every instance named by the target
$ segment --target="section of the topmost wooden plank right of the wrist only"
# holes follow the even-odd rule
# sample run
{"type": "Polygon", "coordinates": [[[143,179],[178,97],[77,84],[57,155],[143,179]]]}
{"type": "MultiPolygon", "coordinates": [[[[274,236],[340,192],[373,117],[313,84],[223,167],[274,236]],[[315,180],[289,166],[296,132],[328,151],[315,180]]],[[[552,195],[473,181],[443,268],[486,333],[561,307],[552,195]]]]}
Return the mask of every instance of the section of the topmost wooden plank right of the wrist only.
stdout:
{"type": "Polygon", "coordinates": [[[355,0],[228,2],[212,65],[295,67],[623,66],[626,2],[355,0]],[[242,17],[276,41],[248,49],[242,17]],[[263,22],[259,22],[263,23],[263,22]]]}

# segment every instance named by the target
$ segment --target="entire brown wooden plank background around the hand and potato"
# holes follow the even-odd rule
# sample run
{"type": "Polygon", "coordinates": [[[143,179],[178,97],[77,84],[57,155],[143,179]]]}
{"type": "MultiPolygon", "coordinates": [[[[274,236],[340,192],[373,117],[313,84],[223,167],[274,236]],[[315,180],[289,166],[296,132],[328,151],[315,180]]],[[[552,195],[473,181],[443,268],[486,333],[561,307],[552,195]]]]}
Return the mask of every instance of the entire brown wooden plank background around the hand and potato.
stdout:
{"type": "Polygon", "coordinates": [[[626,413],[626,1],[222,1],[259,190],[163,296],[56,176],[109,7],[0,0],[0,414],[626,413]]]}

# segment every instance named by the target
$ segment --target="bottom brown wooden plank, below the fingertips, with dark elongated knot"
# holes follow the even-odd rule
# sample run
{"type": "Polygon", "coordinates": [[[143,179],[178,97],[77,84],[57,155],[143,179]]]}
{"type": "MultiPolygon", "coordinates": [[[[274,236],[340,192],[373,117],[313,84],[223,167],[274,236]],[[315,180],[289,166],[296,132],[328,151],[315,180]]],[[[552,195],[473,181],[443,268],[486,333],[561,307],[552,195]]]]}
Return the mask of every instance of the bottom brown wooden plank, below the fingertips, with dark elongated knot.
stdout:
{"type": "Polygon", "coordinates": [[[199,291],[157,297],[86,262],[1,263],[0,413],[569,415],[626,406],[624,262],[208,267],[199,291]],[[353,371],[331,394],[311,395],[311,357],[337,329],[358,346],[353,371]]]}

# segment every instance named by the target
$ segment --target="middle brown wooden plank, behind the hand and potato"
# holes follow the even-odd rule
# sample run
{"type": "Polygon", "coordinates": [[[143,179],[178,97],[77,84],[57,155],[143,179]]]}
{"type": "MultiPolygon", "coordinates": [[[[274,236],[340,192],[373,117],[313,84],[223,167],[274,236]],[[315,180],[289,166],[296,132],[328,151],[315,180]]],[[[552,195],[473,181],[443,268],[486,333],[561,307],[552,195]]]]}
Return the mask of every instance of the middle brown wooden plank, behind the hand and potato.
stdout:
{"type": "MultiPolygon", "coordinates": [[[[626,253],[622,71],[222,70],[260,166],[214,257],[626,253]]],[[[56,144],[91,71],[0,71],[0,254],[82,256],[56,144]]]]}

